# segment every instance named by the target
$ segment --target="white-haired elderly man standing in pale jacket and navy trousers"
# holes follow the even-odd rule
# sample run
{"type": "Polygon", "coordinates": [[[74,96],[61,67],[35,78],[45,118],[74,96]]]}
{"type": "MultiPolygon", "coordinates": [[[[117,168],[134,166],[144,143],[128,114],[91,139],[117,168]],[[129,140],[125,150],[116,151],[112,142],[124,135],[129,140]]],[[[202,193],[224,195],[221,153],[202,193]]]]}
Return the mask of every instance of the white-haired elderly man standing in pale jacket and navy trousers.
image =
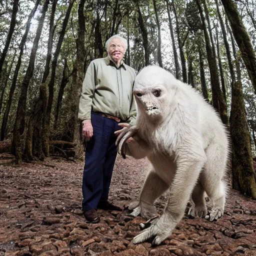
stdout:
{"type": "Polygon", "coordinates": [[[135,71],[122,60],[127,41],[113,35],[105,47],[107,57],[92,60],[87,68],[78,112],[85,138],[82,210],[92,223],[99,221],[97,208],[121,210],[107,200],[117,153],[114,131],[134,124],[136,115],[135,71]]]}

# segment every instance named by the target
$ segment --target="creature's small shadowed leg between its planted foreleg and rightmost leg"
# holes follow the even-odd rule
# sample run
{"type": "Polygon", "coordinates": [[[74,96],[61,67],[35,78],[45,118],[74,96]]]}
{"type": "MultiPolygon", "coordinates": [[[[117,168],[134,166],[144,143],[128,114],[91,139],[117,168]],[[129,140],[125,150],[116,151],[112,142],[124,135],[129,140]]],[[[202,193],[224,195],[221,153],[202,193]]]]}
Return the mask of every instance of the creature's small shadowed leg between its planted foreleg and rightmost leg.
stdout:
{"type": "Polygon", "coordinates": [[[196,215],[201,218],[205,217],[205,215],[207,214],[207,208],[204,199],[204,189],[200,182],[198,182],[193,189],[192,199],[195,206],[191,206],[188,215],[190,215],[191,217],[195,217],[196,215]]]}

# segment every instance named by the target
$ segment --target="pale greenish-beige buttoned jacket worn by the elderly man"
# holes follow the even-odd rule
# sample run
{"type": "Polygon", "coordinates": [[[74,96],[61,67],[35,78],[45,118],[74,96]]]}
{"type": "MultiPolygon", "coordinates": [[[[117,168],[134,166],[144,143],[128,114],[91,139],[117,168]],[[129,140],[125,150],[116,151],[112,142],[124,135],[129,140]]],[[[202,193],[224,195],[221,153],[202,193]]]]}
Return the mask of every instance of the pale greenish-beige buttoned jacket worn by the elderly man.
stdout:
{"type": "Polygon", "coordinates": [[[82,83],[78,118],[90,119],[91,112],[101,112],[134,124],[135,75],[135,70],[123,61],[117,67],[108,56],[92,60],[82,83]]]}

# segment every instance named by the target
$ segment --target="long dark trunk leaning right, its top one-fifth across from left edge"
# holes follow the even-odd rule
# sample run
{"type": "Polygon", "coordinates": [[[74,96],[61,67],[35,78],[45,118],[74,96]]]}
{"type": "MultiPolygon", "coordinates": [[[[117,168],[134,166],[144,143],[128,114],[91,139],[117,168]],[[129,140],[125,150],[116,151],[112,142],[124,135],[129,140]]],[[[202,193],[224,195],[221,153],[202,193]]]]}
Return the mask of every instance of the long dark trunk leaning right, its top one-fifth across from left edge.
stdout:
{"type": "Polygon", "coordinates": [[[16,118],[15,118],[15,123],[13,128],[13,138],[12,138],[12,152],[15,155],[16,163],[19,163],[22,160],[21,152],[22,152],[23,146],[21,144],[21,135],[23,134],[24,127],[25,127],[27,89],[34,71],[36,51],[37,51],[38,42],[41,36],[43,21],[44,21],[45,13],[47,11],[48,4],[49,4],[49,0],[45,0],[43,3],[41,16],[38,19],[38,26],[36,29],[36,34],[33,40],[33,46],[32,46],[30,57],[29,57],[28,67],[26,69],[26,73],[21,84],[21,92],[18,99],[17,112],[16,112],[16,118]]]}

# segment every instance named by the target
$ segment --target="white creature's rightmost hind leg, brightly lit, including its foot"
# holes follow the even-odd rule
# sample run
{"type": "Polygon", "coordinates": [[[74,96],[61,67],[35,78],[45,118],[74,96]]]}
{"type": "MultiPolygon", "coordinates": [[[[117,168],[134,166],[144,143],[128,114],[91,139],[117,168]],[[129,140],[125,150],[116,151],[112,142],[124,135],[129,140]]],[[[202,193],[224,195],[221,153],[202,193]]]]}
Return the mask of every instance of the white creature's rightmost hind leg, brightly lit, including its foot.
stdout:
{"type": "Polygon", "coordinates": [[[206,150],[207,162],[200,175],[200,181],[207,195],[212,199],[213,207],[205,218],[213,221],[222,216],[225,205],[225,184],[221,180],[226,164],[226,153],[219,145],[212,144],[206,150]]]}

